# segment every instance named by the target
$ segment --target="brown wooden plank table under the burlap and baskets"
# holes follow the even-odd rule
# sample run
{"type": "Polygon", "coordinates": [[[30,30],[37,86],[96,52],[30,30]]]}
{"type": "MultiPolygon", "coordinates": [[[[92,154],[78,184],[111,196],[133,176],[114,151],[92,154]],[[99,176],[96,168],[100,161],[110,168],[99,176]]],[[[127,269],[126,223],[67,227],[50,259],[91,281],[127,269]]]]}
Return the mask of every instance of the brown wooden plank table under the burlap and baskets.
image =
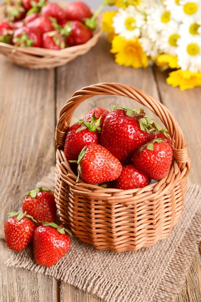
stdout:
{"type": "MultiPolygon", "coordinates": [[[[133,69],[118,66],[103,37],[86,55],[54,70],[29,70],[0,57],[0,202],[3,224],[7,213],[18,210],[24,192],[33,189],[55,164],[54,132],[59,112],[66,100],[79,88],[99,82],[133,85],[159,99],[175,115],[191,155],[189,179],[201,185],[201,88],[181,92],[166,85],[167,74],[155,67],[133,69]]],[[[125,100],[124,100],[125,101],[125,100]]],[[[95,106],[119,103],[119,97],[96,97],[82,103],[75,121],[95,106]],[[117,99],[118,98],[118,99],[117,99]]],[[[135,107],[133,101],[125,103],[135,107]]],[[[25,269],[7,268],[3,263],[10,251],[1,240],[1,302],[100,302],[54,278],[25,269]]],[[[186,276],[186,286],[178,301],[201,301],[198,256],[186,276]]],[[[130,301],[128,301],[130,302],[130,301]]]]}

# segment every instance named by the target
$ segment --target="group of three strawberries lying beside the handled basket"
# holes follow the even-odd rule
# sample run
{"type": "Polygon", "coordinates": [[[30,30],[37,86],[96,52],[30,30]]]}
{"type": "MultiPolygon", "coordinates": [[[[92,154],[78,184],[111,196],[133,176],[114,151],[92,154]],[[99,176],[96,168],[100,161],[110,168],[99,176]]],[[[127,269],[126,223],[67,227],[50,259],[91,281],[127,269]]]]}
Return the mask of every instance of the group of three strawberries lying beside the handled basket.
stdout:
{"type": "Polygon", "coordinates": [[[37,188],[27,193],[22,213],[11,212],[5,223],[6,243],[11,250],[22,251],[33,241],[35,261],[54,265],[70,249],[68,230],[56,222],[53,192],[37,188]]]}

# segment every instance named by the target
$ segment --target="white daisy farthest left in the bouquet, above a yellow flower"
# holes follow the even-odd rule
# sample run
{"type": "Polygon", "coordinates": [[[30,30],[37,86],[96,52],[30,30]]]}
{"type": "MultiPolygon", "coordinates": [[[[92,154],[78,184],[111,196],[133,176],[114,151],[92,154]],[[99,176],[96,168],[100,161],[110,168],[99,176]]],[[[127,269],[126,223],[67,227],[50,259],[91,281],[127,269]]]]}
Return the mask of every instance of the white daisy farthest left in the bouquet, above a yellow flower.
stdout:
{"type": "Polygon", "coordinates": [[[113,18],[115,33],[127,40],[139,37],[143,25],[145,25],[145,15],[138,12],[132,5],[125,10],[119,9],[113,18]]]}

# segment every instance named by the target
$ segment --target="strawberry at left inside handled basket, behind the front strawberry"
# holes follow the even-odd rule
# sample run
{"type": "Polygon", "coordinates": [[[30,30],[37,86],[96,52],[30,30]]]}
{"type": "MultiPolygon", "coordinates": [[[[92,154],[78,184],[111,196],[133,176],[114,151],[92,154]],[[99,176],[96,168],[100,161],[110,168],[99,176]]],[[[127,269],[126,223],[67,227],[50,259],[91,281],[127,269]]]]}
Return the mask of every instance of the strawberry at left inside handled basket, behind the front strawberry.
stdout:
{"type": "Polygon", "coordinates": [[[86,145],[97,143],[97,131],[100,131],[100,119],[97,121],[76,123],[68,129],[64,146],[64,155],[68,161],[77,161],[78,155],[86,145]]]}

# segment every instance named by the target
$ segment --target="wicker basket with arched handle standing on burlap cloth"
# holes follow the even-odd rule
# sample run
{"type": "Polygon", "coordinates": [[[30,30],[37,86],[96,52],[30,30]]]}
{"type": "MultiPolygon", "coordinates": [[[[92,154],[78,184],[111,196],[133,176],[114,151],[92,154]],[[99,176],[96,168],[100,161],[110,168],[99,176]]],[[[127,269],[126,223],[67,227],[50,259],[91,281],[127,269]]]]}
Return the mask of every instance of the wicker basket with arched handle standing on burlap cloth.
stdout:
{"type": "Polygon", "coordinates": [[[96,249],[136,251],[168,237],[182,213],[190,159],[183,133],[168,109],[139,89],[103,83],[74,93],[60,113],[56,127],[55,201],[60,220],[81,241],[96,249]],[[63,147],[72,114],[84,100],[96,95],[118,95],[136,100],[157,115],[173,141],[174,160],[169,175],[142,189],[119,190],[79,180],[66,161],[63,147]]]}

